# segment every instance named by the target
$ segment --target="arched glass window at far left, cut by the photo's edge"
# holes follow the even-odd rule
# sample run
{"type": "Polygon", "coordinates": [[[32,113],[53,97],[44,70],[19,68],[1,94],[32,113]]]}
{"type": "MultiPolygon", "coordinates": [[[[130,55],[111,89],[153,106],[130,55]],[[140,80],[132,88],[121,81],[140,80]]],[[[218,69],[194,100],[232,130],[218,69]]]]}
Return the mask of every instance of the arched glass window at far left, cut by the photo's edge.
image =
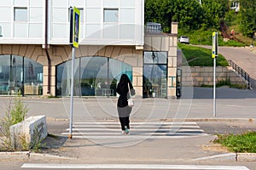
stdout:
{"type": "Polygon", "coordinates": [[[43,65],[18,55],[0,55],[0,94],[43,94],[43,65]]]}

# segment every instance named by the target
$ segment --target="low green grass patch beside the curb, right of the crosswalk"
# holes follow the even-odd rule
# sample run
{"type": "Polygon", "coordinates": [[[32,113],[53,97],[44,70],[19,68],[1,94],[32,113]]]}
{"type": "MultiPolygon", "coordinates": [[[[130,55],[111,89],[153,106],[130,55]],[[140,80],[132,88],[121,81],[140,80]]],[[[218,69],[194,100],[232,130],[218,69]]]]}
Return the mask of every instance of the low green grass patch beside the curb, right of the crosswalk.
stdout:
{"type": "Polygon", "coordinates": [[[256,132],[243,134],[218,135],[218,139],[213,141],[228,148],[230,151],[239,153],[256,153],[256,132]]]}

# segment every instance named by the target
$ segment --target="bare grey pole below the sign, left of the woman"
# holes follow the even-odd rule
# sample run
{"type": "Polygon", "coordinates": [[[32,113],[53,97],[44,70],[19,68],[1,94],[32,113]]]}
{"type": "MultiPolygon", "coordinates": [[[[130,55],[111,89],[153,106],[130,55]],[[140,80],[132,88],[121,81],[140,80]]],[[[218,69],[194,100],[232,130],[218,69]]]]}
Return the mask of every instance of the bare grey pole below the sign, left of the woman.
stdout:
{"type": "Polygon", "coordinates": [[[71,89],[70,89],[70,122],[69,122],[69,134],[68,139],[72,139],[72,128],[73,128],[73,77],[74,77],[74,61],[75,61],[75,48],[72,48],[72,68],[71,68],[71,89]]]}

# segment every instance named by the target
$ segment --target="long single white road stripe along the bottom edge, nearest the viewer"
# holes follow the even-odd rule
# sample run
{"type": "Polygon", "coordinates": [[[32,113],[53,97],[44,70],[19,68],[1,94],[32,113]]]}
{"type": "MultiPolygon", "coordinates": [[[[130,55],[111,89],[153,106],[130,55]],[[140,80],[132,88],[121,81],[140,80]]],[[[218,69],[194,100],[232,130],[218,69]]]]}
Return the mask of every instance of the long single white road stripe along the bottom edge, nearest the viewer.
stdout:
{"type": "Polygon", "coordinates": [[[249,170],[245,166],[159,165],[159,164],[42,164],[42,163],[24,163],[21,166],[21,168],[249,170]]]}

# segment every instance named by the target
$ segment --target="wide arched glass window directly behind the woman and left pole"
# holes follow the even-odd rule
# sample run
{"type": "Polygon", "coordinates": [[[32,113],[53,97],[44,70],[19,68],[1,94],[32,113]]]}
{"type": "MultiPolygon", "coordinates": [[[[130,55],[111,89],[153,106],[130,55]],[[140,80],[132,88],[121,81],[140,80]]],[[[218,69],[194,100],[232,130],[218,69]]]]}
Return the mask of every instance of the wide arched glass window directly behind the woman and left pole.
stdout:
{"type": "MultiPolygon", "coordinates": [[[[56,73],[57,96],[68,96],[71,87],[71,60],[57,65],[56,73]]],[[[132,67],[106,57],[81,57],[75,59],[74,73],[74,95],[116,96],[115,89],[120,76],[125,73],[132,78],[132,67]]]]}

